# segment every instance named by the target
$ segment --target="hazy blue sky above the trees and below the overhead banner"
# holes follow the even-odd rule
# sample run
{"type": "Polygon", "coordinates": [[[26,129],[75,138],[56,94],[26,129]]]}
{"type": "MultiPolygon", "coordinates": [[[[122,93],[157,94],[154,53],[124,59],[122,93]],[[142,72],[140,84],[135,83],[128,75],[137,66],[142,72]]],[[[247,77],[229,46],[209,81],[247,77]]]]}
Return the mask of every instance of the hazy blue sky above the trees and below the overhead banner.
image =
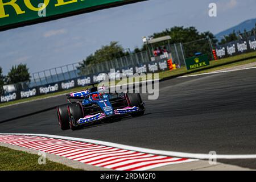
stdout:
{"type": "Polygon", "coordinates": [[[214,34],[256,18],[255,0],[150,0],[0,32],[0,67],[26,63],[30,72],[76,63],[102,45],[118,41],[141,47],[142,36],[173,26],[214,34]],[[217,17],[208,16],[210,2],[217,17]]]}

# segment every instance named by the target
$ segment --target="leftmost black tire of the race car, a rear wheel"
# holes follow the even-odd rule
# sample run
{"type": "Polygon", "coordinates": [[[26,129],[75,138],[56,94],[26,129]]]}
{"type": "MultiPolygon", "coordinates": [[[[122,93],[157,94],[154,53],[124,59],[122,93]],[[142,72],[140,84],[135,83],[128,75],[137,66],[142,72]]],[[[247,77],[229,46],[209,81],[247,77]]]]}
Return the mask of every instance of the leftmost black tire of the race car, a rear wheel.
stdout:
{"type": "Polygon", "coordinates": [[[69,117],[68,117],[68,106],[70,104],[65,104],[61,106],[57,106],[57,118],[59,122],[59,126],[61,130],[69,130],[69,117]]]}

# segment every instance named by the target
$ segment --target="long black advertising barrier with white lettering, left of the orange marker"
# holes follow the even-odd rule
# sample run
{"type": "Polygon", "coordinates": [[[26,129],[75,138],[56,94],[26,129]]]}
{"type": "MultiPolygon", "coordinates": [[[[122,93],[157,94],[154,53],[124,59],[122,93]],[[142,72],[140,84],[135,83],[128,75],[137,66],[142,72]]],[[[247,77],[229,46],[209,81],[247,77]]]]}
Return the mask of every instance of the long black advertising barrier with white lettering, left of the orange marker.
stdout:
{"type": "MultiPolygon", "coordinates": [[[[0,0],[1,1],[1,0],[0,0]]],[[[60,92],[76,88],[79,86],[88,86],[97,84],[106,79],[106,76],[110,80],[114,78],[120,78],[123,76],[133,75],[134,73],[146,74],[146,73],[157,73],[168,70],[166,60],[150,61],[143,64],[130,65],[130,67],[123,67],[115,69],[115,72],[98,72],[92,75],[80,76],[69,80],[63,80],[59,82],[51,82],[46,85],[38,85],[31,88],[20,89],[12,88],[12,85],[5,86],[5,94],[0,95],[0,103],[15,101],[23,98],[30,98],[35,96],[41,96],[44,94],[51,94],[54,92],[60,92]]]]}

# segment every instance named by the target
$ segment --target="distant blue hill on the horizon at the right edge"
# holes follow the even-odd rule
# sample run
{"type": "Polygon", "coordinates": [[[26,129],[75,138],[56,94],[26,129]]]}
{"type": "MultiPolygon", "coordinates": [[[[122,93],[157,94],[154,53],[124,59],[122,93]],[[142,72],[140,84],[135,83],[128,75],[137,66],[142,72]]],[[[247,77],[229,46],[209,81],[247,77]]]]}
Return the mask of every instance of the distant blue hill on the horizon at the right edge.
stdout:
{"type": "Polygon", "coordinates": [[[240,30],[241,32],[243,32],[245,29],[246,29],[246,31],[250,31],[251,28],[255,27],[255,23],[256,23],[256,18],[246,20],[245,22],[242,22],[242,23],[238,24],[237,26],[234,26],[232,28],[229,28],[228,30],[225,30],[225,31],[222,31],[222,32],[216,34],[215,36],[218,40],[221,40],[221,39],[223,39],[224,35],[229,35],[233,31],[237,32],[240,30]]]}

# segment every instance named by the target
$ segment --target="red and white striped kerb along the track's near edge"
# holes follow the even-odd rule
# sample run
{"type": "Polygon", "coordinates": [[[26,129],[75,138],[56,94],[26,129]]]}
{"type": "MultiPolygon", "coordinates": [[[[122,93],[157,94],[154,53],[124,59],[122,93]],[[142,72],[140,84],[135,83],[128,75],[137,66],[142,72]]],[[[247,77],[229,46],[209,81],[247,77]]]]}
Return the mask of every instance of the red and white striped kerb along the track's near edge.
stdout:
{"type": "Polygon", "coordinates": [[[94,143],[30,135],[0,135],[0,143],[43,151],[81,163],[120,171],[142,171],[193,161],[187,158],[146,154],[94,143]]]}

